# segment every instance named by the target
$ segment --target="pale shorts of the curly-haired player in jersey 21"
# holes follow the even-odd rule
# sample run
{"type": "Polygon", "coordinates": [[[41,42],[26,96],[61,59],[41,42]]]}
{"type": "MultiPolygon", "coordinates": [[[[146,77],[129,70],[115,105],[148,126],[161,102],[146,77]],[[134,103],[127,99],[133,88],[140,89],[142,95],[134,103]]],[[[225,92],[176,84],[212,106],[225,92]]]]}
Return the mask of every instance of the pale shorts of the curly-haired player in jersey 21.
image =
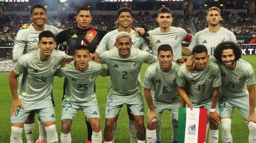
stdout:
{"type": "Polygon", "coordinates": [[[249,96],[237,99],[227,97],[219,99],[220,118],[233,116],[235,107],[238,108],[244,119],[248,119],[250,112],[249,96]]]}

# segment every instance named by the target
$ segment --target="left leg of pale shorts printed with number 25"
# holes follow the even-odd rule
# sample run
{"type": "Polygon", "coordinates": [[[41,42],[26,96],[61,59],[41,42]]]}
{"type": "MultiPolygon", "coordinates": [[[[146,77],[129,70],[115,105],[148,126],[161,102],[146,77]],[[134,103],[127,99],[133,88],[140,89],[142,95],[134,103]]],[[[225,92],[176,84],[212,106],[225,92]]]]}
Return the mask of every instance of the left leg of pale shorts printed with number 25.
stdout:
{"type": "Polygon", "coordinates": [[[64,99],[62,102],[61,120],[74,120],[77,111],[80,109],[79,103],[64,99]]]}

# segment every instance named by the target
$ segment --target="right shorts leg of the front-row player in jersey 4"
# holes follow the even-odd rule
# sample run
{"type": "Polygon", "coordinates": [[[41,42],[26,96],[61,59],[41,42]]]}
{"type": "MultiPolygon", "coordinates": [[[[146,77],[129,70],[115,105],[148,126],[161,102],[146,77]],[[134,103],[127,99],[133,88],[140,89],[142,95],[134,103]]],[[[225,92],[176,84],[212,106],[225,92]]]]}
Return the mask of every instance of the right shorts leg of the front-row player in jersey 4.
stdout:
{"type": "Polygon", "coordinates": [[[54,121],[55,122],[55,112],[54,108],[52,105],[52,101],[49,100],[44,100],[42,101],[35,112],[38,114],[39,118],[41,119],[41,122],[48,122],[48,121],[54,121]]]}

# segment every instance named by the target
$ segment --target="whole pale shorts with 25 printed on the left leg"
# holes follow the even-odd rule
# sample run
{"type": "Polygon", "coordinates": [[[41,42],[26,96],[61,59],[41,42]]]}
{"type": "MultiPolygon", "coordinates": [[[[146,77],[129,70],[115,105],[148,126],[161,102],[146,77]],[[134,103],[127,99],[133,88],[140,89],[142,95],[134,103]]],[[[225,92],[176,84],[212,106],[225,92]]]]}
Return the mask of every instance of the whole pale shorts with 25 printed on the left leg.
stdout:
{"type": "Polygon", "coordinates": [[[64,99],[62,102],[61,120],[74,120],[77,111],[80,109],[85,113],[86,118],[100,118],[100,111],[96,99],[86,103],[77,103],[64,99]]]}

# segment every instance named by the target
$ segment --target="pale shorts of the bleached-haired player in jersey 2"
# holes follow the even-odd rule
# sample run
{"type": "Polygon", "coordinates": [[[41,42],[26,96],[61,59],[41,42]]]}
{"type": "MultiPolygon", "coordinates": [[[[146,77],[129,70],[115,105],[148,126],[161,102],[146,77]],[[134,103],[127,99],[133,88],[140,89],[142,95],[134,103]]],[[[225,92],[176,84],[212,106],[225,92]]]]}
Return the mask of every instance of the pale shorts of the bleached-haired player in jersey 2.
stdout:
{"type": "Polygon", "coordinates": [[[120,109],[126,104],[133,115],[144,115],[144,101],[142,93],[131,96],[110,95],[107,99],[106,118],[115,118],[119,115],[120,109]]]}

